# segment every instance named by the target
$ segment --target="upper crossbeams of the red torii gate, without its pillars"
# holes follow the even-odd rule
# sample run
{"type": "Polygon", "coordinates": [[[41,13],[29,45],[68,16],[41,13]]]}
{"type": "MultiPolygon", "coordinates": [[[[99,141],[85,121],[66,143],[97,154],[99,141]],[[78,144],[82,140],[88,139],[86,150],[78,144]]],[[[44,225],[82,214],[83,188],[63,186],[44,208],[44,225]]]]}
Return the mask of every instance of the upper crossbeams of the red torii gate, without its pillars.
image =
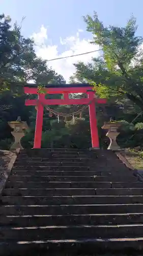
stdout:
{"type": "MultiPolygon", "coordinates": [[[[45,105],[67,105],[67,104],[89,104],[89,100],[94,98],[95,92],[93,87],[87,83],[74,83],[74,84],[47,84],[44,86],[45,94],[64,94],[64,99],[45,99],[44,94],[39,94],[37,84],[26,84],[24,86],[25,94],[38,94],[39,101],[45,105]],[[69,93],[87,93],[88,98],[82,99],[69,99],[69,93]]],[[[95,98],[96,103],[106,103],[105,99],[95,98]]],[[[26,100],[25,105],[36,105],[36,100],[26,100]]]]}

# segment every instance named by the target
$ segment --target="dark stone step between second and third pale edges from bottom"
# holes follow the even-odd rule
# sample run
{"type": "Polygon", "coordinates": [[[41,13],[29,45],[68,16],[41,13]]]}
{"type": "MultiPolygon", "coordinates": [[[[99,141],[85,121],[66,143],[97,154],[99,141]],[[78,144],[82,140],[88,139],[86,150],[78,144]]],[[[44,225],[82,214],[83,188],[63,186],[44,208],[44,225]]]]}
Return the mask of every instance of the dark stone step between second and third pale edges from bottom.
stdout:
{"type": "Polygon", "coordinates": [[[0,226],[32,227],[47,225],[118,225],[141,224],[143,214],[95,214],[95,215],[34,215],[1,216],[0,226]]]}

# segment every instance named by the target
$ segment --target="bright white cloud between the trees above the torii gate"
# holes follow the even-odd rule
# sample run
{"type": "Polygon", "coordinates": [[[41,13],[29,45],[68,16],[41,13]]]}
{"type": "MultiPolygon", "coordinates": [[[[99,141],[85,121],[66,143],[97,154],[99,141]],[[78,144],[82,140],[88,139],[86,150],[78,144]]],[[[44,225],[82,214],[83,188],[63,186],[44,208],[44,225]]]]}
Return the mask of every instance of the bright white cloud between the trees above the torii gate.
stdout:
{"type": "MultiPolygon", "coordinates": [[[[42,59],[49,60],[98,50],[99,46],[90,44],[90,39],[80,38],[80,34],[82,32],[83,31],[79,29],[76,35],[67,36],[64,39],[59,38],[59,45],[52,45],[48,44],[50,40],[47,36],[47,29],[42,25],[40,32],[34,33],[32,35],[37,45],[36,53],[42,59]],[[61,49],[65,48],[62,53],[59,52],[60,46],[61,49]]],[[[92,57],[97,56],[99,56],[99,52],[66,59],[53,60],[47,63],[49,67],[52,67],[58,74],[63,75],[64,78],[68,81],[69,77],[75,72],[73,63],[77,63],[78,61],[87,63],[92,60],[92,57]]]]}

